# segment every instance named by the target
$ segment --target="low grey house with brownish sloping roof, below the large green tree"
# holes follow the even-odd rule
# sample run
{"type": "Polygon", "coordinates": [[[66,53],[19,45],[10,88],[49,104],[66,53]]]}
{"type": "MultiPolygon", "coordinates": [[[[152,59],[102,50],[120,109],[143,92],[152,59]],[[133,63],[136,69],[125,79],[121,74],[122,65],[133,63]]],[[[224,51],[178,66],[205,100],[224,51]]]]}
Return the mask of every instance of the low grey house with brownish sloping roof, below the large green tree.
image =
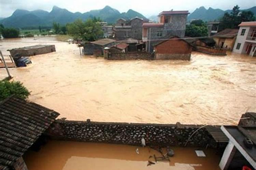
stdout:
{"type": "Polygon", "coordinates": [[[93,42],[85,42],[80,45],[84,47],[85,55],[103,55],[103,50],[105,47],[112,47],[115,45],[114,39],[103,38],[93,42]]]}

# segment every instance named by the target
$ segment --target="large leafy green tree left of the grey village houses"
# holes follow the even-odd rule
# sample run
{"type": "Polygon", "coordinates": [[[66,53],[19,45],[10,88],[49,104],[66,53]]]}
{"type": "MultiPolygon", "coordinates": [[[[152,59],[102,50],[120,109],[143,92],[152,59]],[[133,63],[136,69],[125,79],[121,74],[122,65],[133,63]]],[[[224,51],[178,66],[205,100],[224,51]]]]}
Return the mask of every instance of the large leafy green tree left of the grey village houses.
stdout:
{"type": "MultiPolygon", "coordinates": [[[[98,19],[97,19],[98,20],[98,19]]],[[[81,19],[67,24],[68,34],[74,39],[82,38],[85,41],[95,41],[103,37],[103,31],[96,20],[88,19],[83,22],[81,19]]]]}

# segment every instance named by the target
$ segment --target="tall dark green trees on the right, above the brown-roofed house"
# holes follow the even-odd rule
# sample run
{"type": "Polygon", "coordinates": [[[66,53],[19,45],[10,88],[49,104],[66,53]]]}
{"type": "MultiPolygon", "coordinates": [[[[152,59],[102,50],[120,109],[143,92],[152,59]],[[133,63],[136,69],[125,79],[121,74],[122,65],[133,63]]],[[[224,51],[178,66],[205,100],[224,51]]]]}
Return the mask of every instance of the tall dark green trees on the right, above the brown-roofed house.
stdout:
{"type": "Polygon", "coordinates": [[[225,13],[221,18],[221,24],[219,26],[219,30],[224,30],[226,28],[238,28],[238,25],[241,22],[246,21],[255,21],[255,17],[253,12],[251,11],[242,11],[240,12],[239,6],[236,5],[233,7],[232,12],[225,13]]]}

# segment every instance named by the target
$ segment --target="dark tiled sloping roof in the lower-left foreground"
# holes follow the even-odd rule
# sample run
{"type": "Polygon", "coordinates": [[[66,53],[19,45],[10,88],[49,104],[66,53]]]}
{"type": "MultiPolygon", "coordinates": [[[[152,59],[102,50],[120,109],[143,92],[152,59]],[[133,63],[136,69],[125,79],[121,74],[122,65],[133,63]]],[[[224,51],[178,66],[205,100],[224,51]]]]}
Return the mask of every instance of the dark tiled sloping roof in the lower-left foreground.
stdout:
{"type": "Polygon", "coordinates": [[[23,99],[0,102],[0,169],[9,169],[59,113],[23,99]]]}

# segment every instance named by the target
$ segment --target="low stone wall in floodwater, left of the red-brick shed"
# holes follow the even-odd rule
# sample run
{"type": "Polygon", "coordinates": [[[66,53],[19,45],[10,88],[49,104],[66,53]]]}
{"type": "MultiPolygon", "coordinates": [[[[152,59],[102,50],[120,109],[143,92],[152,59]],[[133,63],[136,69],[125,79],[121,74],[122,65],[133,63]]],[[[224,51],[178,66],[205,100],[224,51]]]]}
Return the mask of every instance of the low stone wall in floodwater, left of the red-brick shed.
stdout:
{"type": "Polygon", "coordinates": [[[127,53],[108,53],[107,60],[152,60],[154,55],[148,52],[127,52],[127,53]]]}

